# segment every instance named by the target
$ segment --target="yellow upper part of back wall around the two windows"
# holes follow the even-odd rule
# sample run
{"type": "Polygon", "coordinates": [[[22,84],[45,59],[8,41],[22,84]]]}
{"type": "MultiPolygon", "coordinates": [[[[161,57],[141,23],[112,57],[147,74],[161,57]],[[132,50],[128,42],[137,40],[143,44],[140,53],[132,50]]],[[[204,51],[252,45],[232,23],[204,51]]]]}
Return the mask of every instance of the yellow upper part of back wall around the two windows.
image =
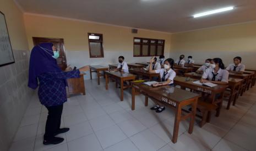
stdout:
{"type": "Polygon", "coordinates": [[[131,28],[95,24],[92,22],[50,18],[25,14],[25,26],[30,49],[33,47],[32,37],[64,38],[65,48],[69,51],[88,51],[88,32],[102,33],[104,51],[133,51],[133,37],[165,39],[165,51],[170,50],[170,34],[147,30],[139,30],[132,34],[131,28]]]}

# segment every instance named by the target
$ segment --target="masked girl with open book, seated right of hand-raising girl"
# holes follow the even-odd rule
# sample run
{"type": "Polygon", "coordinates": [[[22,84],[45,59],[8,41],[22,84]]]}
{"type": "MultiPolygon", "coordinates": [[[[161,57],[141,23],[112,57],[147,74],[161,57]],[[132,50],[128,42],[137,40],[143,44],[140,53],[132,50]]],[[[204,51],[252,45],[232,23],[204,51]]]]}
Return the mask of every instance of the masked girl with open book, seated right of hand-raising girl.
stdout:
{"type": "Polygon", "coordinates": [[[214,58],[210,68],[206,69],[200,82],[211,82],[215,84],[228,84],[228,71],[220,58],[214,58]],[[208,80],[206,80],[208,79],[208,80]]]}

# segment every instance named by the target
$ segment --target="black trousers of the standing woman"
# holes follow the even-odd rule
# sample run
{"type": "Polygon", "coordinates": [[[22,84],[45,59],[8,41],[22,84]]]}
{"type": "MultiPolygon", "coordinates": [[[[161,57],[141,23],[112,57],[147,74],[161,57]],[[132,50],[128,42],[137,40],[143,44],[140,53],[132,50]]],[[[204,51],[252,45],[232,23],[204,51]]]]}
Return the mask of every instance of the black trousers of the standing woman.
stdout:
{"type": "Polygon", "coordinates": [[[55,133],[61,126],[63,104],[46,108],[48,109],[48,116],[45,125],[45,135],[43,136],[43,139],[50,140],[52,137],[54,137],[55,133]]]}

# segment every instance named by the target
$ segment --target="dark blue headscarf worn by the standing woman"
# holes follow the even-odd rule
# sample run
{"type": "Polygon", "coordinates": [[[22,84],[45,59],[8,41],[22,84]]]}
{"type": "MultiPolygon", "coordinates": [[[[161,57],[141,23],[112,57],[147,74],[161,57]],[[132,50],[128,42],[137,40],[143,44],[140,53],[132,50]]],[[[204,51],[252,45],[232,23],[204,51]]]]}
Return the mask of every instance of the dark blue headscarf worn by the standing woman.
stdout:
{"type": "Polygon", "coordinates": [[[56,59],[53,56],[52,43],[41,43],[36,45],[30,54],[29,61],[29,84],[32,89],[38,86],[37,77],[45,72],[61,72],[56,59]]]}

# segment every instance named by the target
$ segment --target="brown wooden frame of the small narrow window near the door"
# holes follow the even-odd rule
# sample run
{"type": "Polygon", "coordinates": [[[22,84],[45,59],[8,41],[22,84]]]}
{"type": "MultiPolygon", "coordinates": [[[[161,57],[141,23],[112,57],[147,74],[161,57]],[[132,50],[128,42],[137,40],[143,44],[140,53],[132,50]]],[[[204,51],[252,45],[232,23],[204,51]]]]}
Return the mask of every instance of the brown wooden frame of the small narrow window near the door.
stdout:
{"type": "Polygon", "coordinates": [[[89,54],[90,58],[97,58],[97,57],[104,57],[104,48],[103,48],[103,34],[101,33],[88,33],[88,45],[89,45],[89,54]],[[100,39],[89,39],[89,36],[99,36],[100,39]],[[100,53],[101,55],[91,55],[91,45],[90,43],[100,43],[101,44],[101,50],[100,53]]]}

